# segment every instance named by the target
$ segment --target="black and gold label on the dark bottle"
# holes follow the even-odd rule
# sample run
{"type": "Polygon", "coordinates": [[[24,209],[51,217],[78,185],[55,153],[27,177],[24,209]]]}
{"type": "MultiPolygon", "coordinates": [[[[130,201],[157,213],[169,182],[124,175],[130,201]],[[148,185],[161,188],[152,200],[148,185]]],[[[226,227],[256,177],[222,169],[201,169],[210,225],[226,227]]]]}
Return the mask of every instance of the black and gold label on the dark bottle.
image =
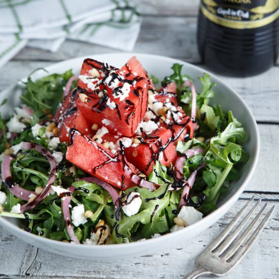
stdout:
{"type": "Polygon", "coordinates": [[[201,0],[200,10],[224,27],[258,28],[279,17],[279,0],[201,0]]]}

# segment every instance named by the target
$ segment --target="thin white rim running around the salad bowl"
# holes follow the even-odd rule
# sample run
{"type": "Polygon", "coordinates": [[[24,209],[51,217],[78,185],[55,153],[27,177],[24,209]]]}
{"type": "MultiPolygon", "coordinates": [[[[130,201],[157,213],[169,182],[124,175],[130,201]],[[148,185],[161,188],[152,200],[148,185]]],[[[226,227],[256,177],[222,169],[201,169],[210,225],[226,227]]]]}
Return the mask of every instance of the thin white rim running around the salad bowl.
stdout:
{"type": "MultiPolygon", "coordinates": [[[[136,56],[138,57],[138,60],[141,60],[141,57],[147,57],[147,58],[157,58],[157,59],[161,59],[164,61],[168,61],[171,63],[180,63],[183,64],[186,67],[190,67],[193,68],[197,71],[200,71],[202,73],[207,73],[209,74],[212,78],[214,78],[217,82],[217,84],[222,84],[222,86],[224,86],[226,88],[226,90],[232,92],[235,97],[237,98],[237,100],[239,102],[241,102],[241,104],[245,107],[245,109],[247,110],[247,113],[249,114],[250,118],[252,119],[252,122],[250,123],[250,127],[252,130],[255,131],[256,133],[256,138],[255,138],[255,153],[254,153],[254,160],[251,164],[251,168],[249,169],[246,178],[243,180],[242,184],[240,185],[240,187],[235,191],[235,193],[224,203],[222,204],[220,207],[218,207],[214,212],[212,212],[211,214],[205,216],[204,218],[202,218],[201,220],[199,220],[198,222],[187,226],[183,229],[180,229],[178,231],[175,232],[170,232],[170,233],[166,233],[164,235],[161,235],[160,237],[154,237],[154,238],[150,238],[150,239],[145,239],[145,241],[135,241],[135,242],[128,242],[128,243],[114,243],[114,244],[107,244],[107,245],[76,245],[75,248],[79,248],[81,250],[96,250],[96,251],[108,251],[108,250],[112,250],[112,249],[130,249],[133,247],[138,247],[138,246],[143,246],[144,243],[147,243],[147,245],[149,245],[149,243],[151,243],[151,241],[153,243],[156,242],[160,242],[162,240],[168,240],[170,237],[173,236],[178,236],[181,234],[187,234],[187,231],[189,230],[195,230],[198,227],[203,226],[205,228],[205,224],[207,223],[207,220],[210,219],[219,219],[221,216],[223,216],[226,213],[226,206],[227,204],[231,203],[231,206],[233,205],[233,203],[236,201],[236,199],[239,197],[239,195],[243,192],[244,188],[246,187],[246,185],[248,184],[248,182],[250,181],[254,170],[256,168],[257,162],[258,162],[258,158],[259,158],[259,151],[260,151],[260,135],[259,135],[259,129],[255,120],[255,117],[252,113],[252,111],[250,110],[250,108],[248,107],[248,104],[242,99],[242,97],[233,89],[231,88],[229,85],[227,85],[225,82],[223,82],[219,77],[217,77],[215,74],[211,73],[210,71],[207,71],[207,69],[204,69],[202,67],[199,67],[197,65],[193,65],[189,62],[180,60],[180,59],[176,59],[176,58],[171,58],[168,56],[162,56],[162,55],[155,55],[155,54],[146,54],[146,53],[133,53],[133,52],[112,52],[112,53],[99,53],[99,54],[92,54],[92,55],[86,55],[86,56],[80,56],[80,57],[76,57],[76,58],[71,58],[71,59],[66,59],[57,63],[53,63],[47,67],[45,67],[45,69],[47,71],[49,71],[50,73],[52,73],[53,71],[55,71],[56,67],[61,66],[63,63],[65,62],[73,62],[75,63],[76,61],[79,60],[84,60],[88,57],[96,57],[96,59],[98,59],[97,56],[108,56],[108,60],[110,56],[127,56],[128,59],[131,56],[136,56]],[[223,214],[222,214],[223,212],[223,214]],[[221,213],[221,214],[220,214],[221,213]],[[220,217],[218,218],[218,215],[220,215],[220,217]]],[[[34,75],[36,76],[36,75],[34,75]]],[[[41,76],[41,75],[40,75],[41,76]]],[[[42,75],[44,76],[44,75],[42,75]]],[[[21,81],[24,81],[26,78],[21,79],[21,81]]],[[[35,79],[37,79],[37,77],[35,77],[35,79]]],[[[18,82],[19,83],[19,82],[18,82]]],[[[7,87],[6,89],[2,90],[0,92],[0,94],[3,91],[9,91],[12,90],[18,83],[14,83],[12,85],[10,85],[9,87],[7,87]]],[[[18,234],[22,234],[22,238],[24,240],[24,237],[26,236],[27,238],[31,238],[34,242],[45,242],[48,243],[49,245],[57,245],[59,243],[59,245],[61,245],[61,248],[64,247],[72,247],[73,248],[73,244],[76,243],[66,243],[66,242],[62,242],[62,241],[57,241],[57,240],[53,240],[53,239],[49,239],[49,238],[45,238],[36,234],[32,234],[29,233],[27,231],[22,230],[21,228],[19,228],[18,226],[14,225],[13,223],[9,222],[8,220],[0,217],[0,225],[3,226],[4,228],[7,228],[10,231],[16,231],[18,232],[18,234]]]]}

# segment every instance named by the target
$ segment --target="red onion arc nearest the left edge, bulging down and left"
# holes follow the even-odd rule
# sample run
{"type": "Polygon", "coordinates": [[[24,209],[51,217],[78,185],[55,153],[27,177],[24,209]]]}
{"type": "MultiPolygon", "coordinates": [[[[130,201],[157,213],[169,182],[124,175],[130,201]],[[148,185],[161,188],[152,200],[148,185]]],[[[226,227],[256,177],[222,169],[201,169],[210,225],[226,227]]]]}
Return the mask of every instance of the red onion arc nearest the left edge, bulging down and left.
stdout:
{"type": "Polygon", "coordinates": [[[26,190],[16,184],[11,175],[11,162],[14,160],[12,156],[5,156],[1,164],[1,173],[4,185],[16,197],[22,200],[29,200],[31,196],[37,196],[33,191],[26,190]]]}

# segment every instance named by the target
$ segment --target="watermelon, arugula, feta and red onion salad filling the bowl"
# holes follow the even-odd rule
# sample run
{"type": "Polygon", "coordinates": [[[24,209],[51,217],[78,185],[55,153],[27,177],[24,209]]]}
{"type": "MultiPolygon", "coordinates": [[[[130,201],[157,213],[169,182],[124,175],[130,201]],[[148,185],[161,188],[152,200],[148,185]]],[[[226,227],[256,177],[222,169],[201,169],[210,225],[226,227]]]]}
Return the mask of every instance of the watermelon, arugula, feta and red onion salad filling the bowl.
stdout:
{"type": "Polygon", "coordinates": [[[79,76],[30,75],[21,106],[0,118],[0,217],[41,237],[108,245],[214,211],[248,160],[247,134],[232,111],[210,106],[208,74],[198,92],[181,64],[172,70],[159,82],[136,57],[121,68],[87,58],[79,76]]]}

